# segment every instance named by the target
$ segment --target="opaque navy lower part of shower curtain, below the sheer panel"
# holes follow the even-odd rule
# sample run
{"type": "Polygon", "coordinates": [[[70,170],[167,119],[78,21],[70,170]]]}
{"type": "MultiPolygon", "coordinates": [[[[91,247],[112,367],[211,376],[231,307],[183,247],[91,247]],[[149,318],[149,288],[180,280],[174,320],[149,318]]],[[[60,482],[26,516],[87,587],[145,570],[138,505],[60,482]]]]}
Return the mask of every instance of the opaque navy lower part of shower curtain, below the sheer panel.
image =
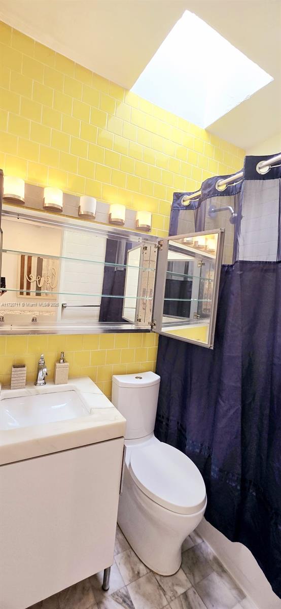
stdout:
{"type": "Polygon", "coordinates": [[[196,463],[206,519],[281,597],[280,303],[281,262],[222,267],[214,349],[159,337],[155,435],[196,463]]]}

